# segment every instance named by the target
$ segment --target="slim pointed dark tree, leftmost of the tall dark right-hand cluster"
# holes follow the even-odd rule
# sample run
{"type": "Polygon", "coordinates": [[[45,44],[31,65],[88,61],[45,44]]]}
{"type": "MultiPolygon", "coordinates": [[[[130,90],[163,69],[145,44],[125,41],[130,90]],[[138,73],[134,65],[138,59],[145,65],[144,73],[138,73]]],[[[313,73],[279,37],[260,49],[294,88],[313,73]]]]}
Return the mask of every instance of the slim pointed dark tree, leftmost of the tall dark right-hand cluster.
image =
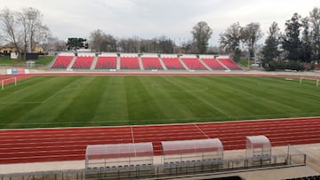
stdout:
{"type": "Polygon", "coordinates": [[[273,22],[272,25],[268,28],[268,37],[266,39],[266,45],[262,49],[263,66],[268,64],[269,61],[276,59],[279,56],[280,51],[278,46],[280,44],[280,28],[276,22],[273,22]]]}

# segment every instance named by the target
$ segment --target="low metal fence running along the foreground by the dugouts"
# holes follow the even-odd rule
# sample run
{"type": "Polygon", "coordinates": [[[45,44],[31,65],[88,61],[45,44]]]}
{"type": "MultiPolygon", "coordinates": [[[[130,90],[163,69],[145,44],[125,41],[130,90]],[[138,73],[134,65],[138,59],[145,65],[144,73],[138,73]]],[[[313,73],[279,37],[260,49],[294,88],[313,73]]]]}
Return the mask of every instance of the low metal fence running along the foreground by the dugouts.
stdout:
{"type": "Polygon", "coordinates": [[[220,174],[263,168],[288,168],[305,166],[307,156],[288,145],[287,153],[266,157],[236,158],[228,160],[189,160],[164,164],[87,168],[51,172],[0,175],[0,180],[93,180],[93,179],[143,179],[166,176],[192,176],[202,173],[220,174]]]}

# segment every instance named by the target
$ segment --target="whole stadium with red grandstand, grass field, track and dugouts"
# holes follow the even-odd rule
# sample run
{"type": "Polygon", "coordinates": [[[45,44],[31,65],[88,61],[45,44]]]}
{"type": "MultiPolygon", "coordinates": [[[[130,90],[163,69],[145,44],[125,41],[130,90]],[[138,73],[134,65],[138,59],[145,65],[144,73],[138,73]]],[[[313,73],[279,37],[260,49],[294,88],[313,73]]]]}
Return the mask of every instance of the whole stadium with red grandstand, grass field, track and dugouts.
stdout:
{"type": "Polygon", "coordinates": [[[1,74],[1,179],[319,179],[317,72],[61,52],[1,74]]]}

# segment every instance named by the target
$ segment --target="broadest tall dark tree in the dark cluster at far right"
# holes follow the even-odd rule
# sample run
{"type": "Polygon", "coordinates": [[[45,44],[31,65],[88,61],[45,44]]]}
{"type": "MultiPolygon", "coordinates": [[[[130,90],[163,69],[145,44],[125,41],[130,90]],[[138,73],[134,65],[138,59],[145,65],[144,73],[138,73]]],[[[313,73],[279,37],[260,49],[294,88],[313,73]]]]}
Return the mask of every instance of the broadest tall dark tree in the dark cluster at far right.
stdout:
{"type": "Polygon", "coordinates": [[[300,42],[300,15],[294,13],[291,20],[285,22],[285,32],[283,37],[283,48],[287,53],[287,59],[299,60],[301,57],[301,42],[300,42]]]}

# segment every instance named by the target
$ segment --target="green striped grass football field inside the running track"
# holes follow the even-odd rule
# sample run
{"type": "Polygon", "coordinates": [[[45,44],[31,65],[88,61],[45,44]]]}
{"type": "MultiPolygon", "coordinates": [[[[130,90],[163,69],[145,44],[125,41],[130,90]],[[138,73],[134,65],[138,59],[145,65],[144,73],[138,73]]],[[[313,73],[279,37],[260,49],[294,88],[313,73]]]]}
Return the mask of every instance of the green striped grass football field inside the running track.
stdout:
{"type": "Polygon", "coordinates": [[[0,91],[0,128],[320,115],[315,81],[275,77],[38,76],[0,91]]]}

